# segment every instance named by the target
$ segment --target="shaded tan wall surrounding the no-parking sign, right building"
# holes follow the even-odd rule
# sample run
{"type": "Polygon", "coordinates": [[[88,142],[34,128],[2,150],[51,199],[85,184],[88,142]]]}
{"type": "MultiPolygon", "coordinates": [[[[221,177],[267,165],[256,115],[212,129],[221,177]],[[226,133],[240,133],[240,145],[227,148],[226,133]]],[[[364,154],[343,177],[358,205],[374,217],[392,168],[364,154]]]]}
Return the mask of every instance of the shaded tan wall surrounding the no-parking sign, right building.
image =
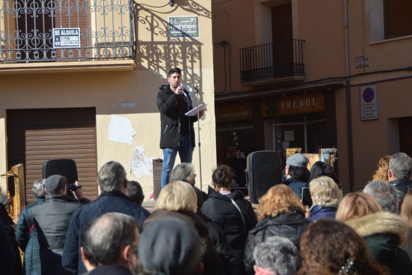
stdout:
{"type": "MultiPolygon", "coordinates": [[[[350,75],[402,69],[410,66],[412,37],[371,41],[373,18],[369,5],[379,0],[349,1],[349,64],[350,75]],[[355,57],[369,54],[369,67],[356,68],[355,57]]],[[[412,73],[382,72],[351,78],[354,184],[364,185],[372,179],[378,160],[399,152],[397,118],[412,116],[410,102],[412,73]],[[360,86],[377,84],[379,120],[361,121],[360,86]]],[[[349,185],[346,90],[336,91],[336,121],[339,148],[339,176],[349,185]]]]}

